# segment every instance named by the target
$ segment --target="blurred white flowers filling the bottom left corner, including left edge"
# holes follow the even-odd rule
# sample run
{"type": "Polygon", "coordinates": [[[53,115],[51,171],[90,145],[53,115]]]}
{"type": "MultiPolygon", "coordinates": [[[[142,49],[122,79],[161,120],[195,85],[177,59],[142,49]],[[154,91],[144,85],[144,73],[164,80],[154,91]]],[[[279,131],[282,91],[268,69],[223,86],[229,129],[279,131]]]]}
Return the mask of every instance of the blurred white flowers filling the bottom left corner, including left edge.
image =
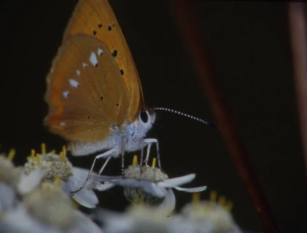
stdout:
{"type": "Polygon", "coordinates": [[[103,232],[76,209],[60,179],[45,179],[48,167],[15,167],[13,156],[0,155],[0,232],[103,232]]]}

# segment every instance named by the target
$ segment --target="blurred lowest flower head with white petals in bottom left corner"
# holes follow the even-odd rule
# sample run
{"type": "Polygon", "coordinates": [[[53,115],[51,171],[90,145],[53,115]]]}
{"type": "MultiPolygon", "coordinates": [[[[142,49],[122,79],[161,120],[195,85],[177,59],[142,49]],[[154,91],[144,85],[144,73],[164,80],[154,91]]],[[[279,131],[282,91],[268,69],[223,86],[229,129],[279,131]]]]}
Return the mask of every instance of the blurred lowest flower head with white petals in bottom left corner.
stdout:
{"type": "Polygon", "coordinates": [[[43,182],[23,202],[0,218],[0,232],[102,233],[88,217],[75,209],[61,187],[43,182]]]}

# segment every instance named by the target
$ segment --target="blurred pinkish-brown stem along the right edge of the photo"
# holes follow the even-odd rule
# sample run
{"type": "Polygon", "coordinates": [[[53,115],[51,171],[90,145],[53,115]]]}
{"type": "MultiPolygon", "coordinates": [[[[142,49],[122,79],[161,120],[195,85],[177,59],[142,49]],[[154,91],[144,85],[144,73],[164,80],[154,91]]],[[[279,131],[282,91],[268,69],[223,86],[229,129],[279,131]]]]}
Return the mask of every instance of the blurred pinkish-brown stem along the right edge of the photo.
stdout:
{"type": "Polygon", "coordinates": [[[307,34],[306,4],[289,3],[289,28],[292,44],[292,59],[297,94],[300,131],[307,168],[307,34]]]}

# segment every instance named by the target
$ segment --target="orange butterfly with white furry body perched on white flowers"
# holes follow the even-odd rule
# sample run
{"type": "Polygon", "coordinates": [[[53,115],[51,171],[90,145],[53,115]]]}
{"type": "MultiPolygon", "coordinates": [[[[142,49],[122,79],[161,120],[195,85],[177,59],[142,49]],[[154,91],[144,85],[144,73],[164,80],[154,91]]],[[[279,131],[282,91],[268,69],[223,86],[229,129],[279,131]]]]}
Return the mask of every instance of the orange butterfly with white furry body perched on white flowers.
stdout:
{"type": "Polygon", "coordinates": [[[145,106],[134,60],[107,0],[78,2],[47,75],[45,100],[45,124],[69,141],[75,156],[105,151],[96,158],[109,159],[158,142],[145,138],[156,114],[145,106]]]}

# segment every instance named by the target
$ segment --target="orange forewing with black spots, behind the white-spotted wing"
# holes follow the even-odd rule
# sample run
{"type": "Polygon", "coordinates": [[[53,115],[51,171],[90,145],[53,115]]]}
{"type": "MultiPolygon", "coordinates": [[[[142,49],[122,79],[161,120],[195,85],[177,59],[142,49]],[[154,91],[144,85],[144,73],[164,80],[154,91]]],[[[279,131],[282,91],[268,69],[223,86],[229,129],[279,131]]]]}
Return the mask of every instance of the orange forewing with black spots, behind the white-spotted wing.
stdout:
{"type": "Polygon", "coordinates": [[[80,34],[95,37],[111,53],[116,51],[114,58],[123,73],[130,97],[127,122],[134,121],[139,110],[145,108],[142,86],[125,37],[107,0],[79,1],[64,33],[63,43],[80,34]]]}

